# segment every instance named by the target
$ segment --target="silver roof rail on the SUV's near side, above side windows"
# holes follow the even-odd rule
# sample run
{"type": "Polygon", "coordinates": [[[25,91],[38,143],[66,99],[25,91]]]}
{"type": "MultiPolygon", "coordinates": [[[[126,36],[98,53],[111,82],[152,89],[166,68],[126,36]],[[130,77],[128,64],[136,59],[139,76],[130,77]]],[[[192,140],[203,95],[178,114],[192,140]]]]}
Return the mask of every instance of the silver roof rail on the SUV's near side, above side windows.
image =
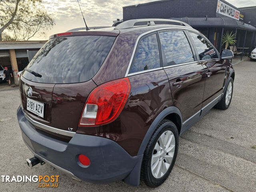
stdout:
{"type": "Polygon", "coordinates": [[[118,26],[116,26],[114,29],[132,28],[138,22],[148,22],[148,24],[147,24],[148,26],[155,25],[155,21],[158,23],[163,22],[162,24],[168,24],[168,22],[177,23],[179,25],[183,25],[183,26],[192,28],[189,24],[186,24],[182,21],[172,20],[172,19],[133,19],[133,20],[127,20],[127,21],[124,21],[124,22],[118,24],[118,26]]]}

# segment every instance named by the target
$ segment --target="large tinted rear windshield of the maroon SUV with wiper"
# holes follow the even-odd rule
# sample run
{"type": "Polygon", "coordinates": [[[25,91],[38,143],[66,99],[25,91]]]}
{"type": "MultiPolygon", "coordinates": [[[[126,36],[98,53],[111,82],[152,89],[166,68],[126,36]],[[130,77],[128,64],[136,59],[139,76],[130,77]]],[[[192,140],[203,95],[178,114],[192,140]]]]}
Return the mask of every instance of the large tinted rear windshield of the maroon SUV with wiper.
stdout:
{"type": "Polygon", "coordinates": [[[90,80],[100,69],[116,37],[71,36],[50,39],[24,70],[24,78],[40,83],[78,83],[90,80]]]}

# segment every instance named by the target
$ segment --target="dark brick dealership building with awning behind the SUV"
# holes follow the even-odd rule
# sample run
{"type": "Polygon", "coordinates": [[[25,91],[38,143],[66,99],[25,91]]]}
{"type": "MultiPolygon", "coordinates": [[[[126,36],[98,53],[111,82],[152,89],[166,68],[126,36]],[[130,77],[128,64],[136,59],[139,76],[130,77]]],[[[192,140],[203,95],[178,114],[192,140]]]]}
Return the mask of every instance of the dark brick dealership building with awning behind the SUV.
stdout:
{"type": "Polygon", "coordinates": [[[256,46],[256,6],[237,8],[224,0],[160,0],[123,7],[122,21],[141,18],[186,22],[202,32],[218,50],[224,48],[221,40],[226,32],[236,34],[233,50],[246,54],[256,46]]]}

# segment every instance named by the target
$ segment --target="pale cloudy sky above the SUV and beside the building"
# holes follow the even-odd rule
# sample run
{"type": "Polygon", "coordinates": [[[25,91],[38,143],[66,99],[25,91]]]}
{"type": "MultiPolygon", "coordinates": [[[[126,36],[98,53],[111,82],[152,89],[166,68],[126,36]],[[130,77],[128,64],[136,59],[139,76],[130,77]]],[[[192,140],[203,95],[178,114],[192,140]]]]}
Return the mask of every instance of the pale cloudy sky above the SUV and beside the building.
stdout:
{"type": "MultiPolygon", "coordinates": [[[[113,20],[122,19],[122,7],[155,0],[79,0],[86,24],[90,26],[112,26],[113,20]]],[[[226,0],[236,7],[256,6],[256,0],[226,0]]],[[[42,4],[55,20],[56,25],[45,37],[31,40],[47,40],[52,34],[84,27],[84,21],[76,0],[42,0],[42,4]]]]}

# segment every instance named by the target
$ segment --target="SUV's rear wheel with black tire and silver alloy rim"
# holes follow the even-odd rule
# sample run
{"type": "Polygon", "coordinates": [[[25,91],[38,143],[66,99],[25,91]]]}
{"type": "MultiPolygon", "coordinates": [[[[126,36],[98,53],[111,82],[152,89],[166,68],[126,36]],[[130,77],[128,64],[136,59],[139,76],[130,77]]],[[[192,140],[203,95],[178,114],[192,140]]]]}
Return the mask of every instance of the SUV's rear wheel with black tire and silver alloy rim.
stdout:
{"type": "Polygon", "coordinates": [[[140,172],[141,181],[148,187],[155,188],[160,186],[170,175],[178,153],[178,136],[179,135],[176,125],[167,119],[163,119],[158,124],[156,130],[152,134],[144,152],[140,172]],[[160,138],[160,136],[162,137],[160,138]],[[167,144],[168,147],[161,148],[161,146],[163,146],[163,143],[160,142],[162,138],[165,137],[167,139],[167,142],[164,143],[167,144]],[[161,148],[161,150],[160,148],[156,147],[156,143],[158,143],[158,146],[161,148]],[[155,150],[155,148],[157,148],[158,150],[155,150]],[[153,159],[154,163],[151,164],[153,153],[155,155],[155,158],[153,159]],[[171,156],[173,157],[171,158],[171,156]],[[152,171],[152,168],[154,167],[155,169],[152,171]],[[161,170],[160,172],[157,171],[157,168],[159,167],[161,170]],[[153,172],[155,173],[154,175],[153,172]]]}

